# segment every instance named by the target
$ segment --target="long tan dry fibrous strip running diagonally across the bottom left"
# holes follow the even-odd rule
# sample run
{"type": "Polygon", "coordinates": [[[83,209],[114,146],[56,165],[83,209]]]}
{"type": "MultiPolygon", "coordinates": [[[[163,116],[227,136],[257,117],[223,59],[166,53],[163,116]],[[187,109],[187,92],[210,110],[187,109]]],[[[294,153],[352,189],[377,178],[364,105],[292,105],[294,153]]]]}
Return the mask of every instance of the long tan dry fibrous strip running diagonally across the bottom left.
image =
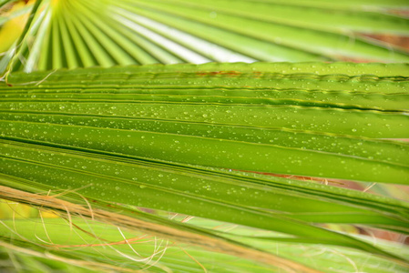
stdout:
{"type": "MultiPolygon", "coordinates": [[[[104,222],[117,227],[128,229],[137,229],[146,232],[151,236],[160,236],[179,243],[196,245],[211,251],[233,255],[239,258],[251,259],[261,262],[274,268],[281,268],[287,272],[293,273],[319,273],[321,271],[308,268],[302,264],[291,260],[275,256],[271,253],[262,252],[257,249],[247,248],[236,245],[230,241],[220,238],[207,237],[201,234],[192,233],[185,230],[179,230],[174,227],[161,226],[156,223],[150,223],[141,219],[120,215],[106,210],[94,208],[93,212],[88,207],[83,207],[65,200],[51,196],[41,196],[28,193],[11,187],[0,186],[0,198],[11,201],[28,203],[36,207],[47,207],[59,210],[60,213],[75,214],[78,216],[91,217],[97,221],[104,222]],[[69,210],[67,208],[69,207],[69,210]]],[[[129,239],[128,239],[129,240],[129,239]]]]}

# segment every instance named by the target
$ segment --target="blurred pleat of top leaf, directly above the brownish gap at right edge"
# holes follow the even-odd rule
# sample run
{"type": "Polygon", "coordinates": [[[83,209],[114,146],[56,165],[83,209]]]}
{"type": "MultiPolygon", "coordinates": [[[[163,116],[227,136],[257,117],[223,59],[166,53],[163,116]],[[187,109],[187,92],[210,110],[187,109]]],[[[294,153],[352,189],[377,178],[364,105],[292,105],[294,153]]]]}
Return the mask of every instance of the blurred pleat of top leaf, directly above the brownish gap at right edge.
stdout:
{"type": "MultiPolygon", "coordinates": [[[[317,30],[358,31],[370,33],[395,33],[407,35],[409,20],[394,15],[377,15],[357,11],[340,11],[336,6],[306,7],[302,5],[271,5],[266,1],[214,1],[192,2],[188,0],[172,1],[180,5],[195,6],[200,9],[218,11],[231,15],[264,20],[276,24],[298,25],[317,30]],[[234,5],[234,8],[231,6],[234,5]]],[[[357,3],[355,2],[355,5],[357,3]]]]}

